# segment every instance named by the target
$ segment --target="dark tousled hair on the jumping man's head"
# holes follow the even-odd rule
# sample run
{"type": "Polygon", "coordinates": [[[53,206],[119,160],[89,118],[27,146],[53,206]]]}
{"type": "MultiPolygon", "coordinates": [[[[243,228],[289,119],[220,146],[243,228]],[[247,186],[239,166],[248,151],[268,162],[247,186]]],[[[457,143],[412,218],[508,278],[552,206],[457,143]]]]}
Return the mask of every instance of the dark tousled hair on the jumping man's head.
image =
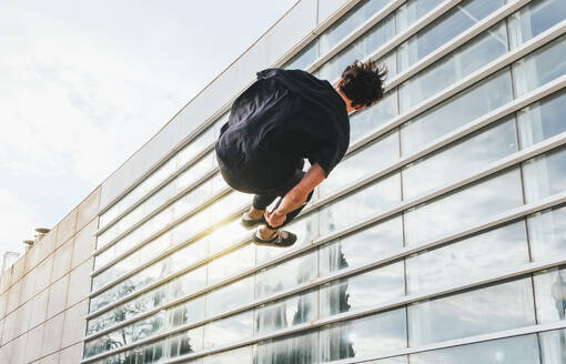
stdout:
{"type": "Polygon", "coordinates": [[[344,81],[340,85],[340,91],[352,100],[352,107],[370,107],[383,98],[383,83],[386,75],[386,68],[377,67],[375,61],[355,60],[342,72],[344,81]]]}

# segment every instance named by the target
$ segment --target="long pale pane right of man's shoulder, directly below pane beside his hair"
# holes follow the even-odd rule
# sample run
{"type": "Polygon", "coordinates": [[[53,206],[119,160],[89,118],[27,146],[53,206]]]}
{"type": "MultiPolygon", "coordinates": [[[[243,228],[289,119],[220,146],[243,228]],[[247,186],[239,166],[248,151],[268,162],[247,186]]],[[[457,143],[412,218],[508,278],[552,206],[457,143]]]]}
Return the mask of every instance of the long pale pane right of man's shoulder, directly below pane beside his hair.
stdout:
{"type": "Polygon", "coordinates": [[[402,154],[414,153],[512,99],[511,75],[504,70],[404,123],[401,127],[402,154]]]}

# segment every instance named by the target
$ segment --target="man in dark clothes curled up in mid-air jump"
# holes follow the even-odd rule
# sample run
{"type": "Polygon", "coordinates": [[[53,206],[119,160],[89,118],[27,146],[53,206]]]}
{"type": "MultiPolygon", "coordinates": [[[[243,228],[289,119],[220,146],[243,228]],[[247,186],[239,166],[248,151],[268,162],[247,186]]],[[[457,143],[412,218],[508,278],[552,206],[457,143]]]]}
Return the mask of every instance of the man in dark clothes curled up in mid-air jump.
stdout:
{"type": "Polygon", "coordinates": [[[374,62],[356,60],[334,88],[302,70],[266,69],[237,97],[215,150],[226,183],[254,194],[242,224],[259,225],[255,244],[290,246],[296,241],[280,228],[301,212],[344,156],[348,115],[383,98],[385,73],[374,62]],[[311,163],[306,173],[305,159],[311,163]],[[270,213],[266,208],[277,196],[270,213]]]}

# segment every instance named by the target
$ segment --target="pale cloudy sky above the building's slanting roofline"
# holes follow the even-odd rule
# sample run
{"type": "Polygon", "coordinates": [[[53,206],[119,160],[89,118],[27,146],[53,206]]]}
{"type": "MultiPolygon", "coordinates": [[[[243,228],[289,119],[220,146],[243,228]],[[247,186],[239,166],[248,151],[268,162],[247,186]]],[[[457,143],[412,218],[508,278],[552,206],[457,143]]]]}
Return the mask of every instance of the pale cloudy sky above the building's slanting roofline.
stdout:
{"type": "Polygon", "coordinates": [[[295,2],[0,1],[0,259],[61,221],[295,2]]]}

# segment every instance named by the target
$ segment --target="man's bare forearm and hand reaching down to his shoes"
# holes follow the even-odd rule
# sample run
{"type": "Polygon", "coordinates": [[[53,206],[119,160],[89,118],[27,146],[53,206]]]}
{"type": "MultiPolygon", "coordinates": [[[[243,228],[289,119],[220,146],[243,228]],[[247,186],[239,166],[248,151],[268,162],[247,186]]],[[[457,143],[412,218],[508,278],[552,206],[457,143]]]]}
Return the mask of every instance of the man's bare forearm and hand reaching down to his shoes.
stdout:
{"type": "Polygon", "coordinates": [[[283,196],[277,210],[271,214],[265,211],[265,220],[272,226],[281,225],[286,219],[286,214],[302,206],[309,193],[325,178],[326,174],[319,163],[311,165],[303,179],[283,196]]]}

